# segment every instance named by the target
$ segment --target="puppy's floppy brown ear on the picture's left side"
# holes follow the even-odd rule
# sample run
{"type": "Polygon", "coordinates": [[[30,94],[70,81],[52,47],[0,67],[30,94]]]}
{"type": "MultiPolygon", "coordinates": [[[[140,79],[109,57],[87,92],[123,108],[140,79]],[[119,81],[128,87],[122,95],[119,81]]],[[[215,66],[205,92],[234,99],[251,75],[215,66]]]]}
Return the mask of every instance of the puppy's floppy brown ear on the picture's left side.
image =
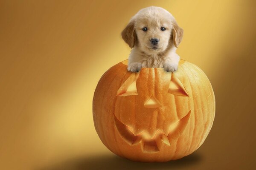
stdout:
{"type": "Polygon", "coordinates": [[[137,38],[134,23],[135,21],[131,20],[121,33],[122,39],[129,45],[130,48],[134,47],[137,38]]]}

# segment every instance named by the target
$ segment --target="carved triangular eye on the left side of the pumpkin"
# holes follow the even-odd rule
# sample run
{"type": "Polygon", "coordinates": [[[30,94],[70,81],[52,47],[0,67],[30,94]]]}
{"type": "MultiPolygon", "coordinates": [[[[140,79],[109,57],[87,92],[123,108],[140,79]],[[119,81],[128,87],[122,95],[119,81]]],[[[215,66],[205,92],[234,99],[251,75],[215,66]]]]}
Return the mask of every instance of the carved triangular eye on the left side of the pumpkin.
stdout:
{"type": "Polygon", "coordinates": [[[130,96],[130,95],[137,95],[137,88],[136,88],[136,78],[135,74],[131,74],[128,79],[121,85],[118,89],[116,96],[130,96]]]}

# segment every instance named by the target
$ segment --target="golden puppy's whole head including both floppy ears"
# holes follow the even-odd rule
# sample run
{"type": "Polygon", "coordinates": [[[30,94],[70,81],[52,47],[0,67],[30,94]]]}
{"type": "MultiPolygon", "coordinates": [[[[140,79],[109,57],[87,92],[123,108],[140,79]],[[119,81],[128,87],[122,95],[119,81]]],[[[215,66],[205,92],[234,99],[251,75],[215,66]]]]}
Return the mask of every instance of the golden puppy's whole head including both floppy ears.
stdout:
{"type": "Polygon", "coordinates": [[[177,48],[183,37],[172,14],[161,7],[147,7],[135,14],[122,31],[123,40],[146,53],[159,53],[173,45],[177,48]]]}

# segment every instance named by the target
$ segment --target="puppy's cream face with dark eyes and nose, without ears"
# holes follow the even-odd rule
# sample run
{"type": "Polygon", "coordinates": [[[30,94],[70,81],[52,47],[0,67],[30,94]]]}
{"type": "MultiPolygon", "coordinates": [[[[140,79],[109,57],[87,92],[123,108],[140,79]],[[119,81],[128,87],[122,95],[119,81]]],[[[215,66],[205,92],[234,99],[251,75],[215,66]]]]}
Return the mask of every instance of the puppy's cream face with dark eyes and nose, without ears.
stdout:
{"type": "Polygon", "coordinates": [[[161,15],[138,18],[135,26],[139,47],[147,53],[165,51],[172,34],[172,23],[161,15]]]}

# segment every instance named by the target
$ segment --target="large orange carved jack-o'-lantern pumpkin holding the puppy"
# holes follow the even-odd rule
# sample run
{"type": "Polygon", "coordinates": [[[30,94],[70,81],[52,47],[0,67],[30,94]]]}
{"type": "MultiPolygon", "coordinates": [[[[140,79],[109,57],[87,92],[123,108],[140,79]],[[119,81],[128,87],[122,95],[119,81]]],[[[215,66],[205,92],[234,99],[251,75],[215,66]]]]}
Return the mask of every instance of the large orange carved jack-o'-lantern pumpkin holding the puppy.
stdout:
{"type": "Polygon", "coordinates": [[[100,78],[93,96],[99,138],[116,155],[134,161],[180,159],[203,144],[215,116],[209,79],[180,60],[178,70],[127,71],[128,60],[100,78]]]}

